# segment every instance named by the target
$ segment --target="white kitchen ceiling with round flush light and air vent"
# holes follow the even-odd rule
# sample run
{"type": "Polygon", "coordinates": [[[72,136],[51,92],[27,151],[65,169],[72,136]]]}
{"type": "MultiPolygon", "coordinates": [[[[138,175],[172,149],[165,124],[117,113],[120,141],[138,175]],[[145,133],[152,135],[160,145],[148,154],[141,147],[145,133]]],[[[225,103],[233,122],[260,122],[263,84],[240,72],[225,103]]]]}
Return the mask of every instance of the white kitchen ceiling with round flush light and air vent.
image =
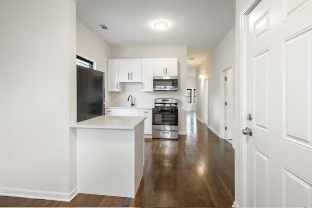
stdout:
{"type": "Polygon", "coordinates": [[[76,1],[77,18],[113,47],[187,45],[198,60],[235,24],[235,0],[76,1]],[[156,31],[156,21],[168,22],[168,29],[156,31]]]}

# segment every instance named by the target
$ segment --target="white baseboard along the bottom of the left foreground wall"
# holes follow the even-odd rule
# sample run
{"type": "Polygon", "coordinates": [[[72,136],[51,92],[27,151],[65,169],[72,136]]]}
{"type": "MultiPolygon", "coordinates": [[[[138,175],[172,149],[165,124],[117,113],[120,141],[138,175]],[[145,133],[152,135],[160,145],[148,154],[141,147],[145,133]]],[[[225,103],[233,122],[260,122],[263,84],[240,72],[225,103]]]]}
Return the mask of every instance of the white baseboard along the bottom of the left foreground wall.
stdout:
{"type": "Polygon", "coordinates": [[[76,187],[71,192],[57,192],[45,190],[17,189],[10,187],[0,187],[1,196],[13,196],[29,199],[45,199],[53,201],[70,202],[78,194],[76,187]]]}

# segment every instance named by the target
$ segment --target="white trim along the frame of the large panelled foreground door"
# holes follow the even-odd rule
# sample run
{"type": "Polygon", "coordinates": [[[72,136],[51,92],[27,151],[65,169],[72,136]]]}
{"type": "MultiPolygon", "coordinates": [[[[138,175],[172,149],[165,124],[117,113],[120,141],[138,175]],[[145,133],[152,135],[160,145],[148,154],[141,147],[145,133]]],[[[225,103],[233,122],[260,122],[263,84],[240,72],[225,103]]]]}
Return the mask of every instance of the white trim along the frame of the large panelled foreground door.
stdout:
{"type": "MultiPolygon", "coordinates": [[[[235,179],[238,179],[238,190],[240,193],[235,193],[235,201],[240,201],[240,207],[247,206],[247,139],[241,131],[247,126],[247,64],[248,64],[248,55],[247,55],[247,40],[248,40],[248,15],[254,9],[254,7],[261,0],[250,0],[249,3],[241,10],[239,14],[239,58],[238,66],[236,70],[239,73],[239,124],[240,129],[238,131],[238,138],[235,139],[236,144],[239,148],[235,148],[235,157],[238,157],[238,160],[235,159],[235,179]]],[[[236,85],[236,86],[237,86],[236,85]]],[[[235,134],[234,134],[235,135],[235,134]]],[[[235,202],[234,202],[235,204],[235,202]]],[[[236,204],[237,206],[237,204],[236,204]]]]}

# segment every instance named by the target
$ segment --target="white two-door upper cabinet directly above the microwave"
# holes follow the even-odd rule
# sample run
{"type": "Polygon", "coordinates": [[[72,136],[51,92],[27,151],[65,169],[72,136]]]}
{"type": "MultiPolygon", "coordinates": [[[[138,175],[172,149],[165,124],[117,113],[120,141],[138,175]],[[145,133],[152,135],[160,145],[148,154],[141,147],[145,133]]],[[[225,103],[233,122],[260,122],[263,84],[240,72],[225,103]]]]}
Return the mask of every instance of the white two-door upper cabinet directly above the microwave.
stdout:
{"type": "Polygon", "coordinates": [[[154,76],[177,76],[177,58],[155,58],[154,76]]]}

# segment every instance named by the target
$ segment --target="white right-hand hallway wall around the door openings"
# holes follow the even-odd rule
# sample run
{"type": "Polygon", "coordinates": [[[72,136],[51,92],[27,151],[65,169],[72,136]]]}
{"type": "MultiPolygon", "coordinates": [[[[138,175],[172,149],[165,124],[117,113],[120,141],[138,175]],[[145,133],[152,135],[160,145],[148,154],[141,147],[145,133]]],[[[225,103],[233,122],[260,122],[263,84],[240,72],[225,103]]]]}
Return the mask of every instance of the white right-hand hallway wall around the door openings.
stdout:
{"type": "MultiPolygon", "coordinates": [[[[196,115],[203,119],[203,93],[204,78],[199,79],[203,72],[208,76],[208,126],[221,133],[221,72],[234,66],[235,59],[235,27],[214,48],[212,53],[196,70],[196,85],[198,89],[198,101],[196,103],[196,115]]],[[[206,89],[207,90],[207,89],[206,89]]]]}

